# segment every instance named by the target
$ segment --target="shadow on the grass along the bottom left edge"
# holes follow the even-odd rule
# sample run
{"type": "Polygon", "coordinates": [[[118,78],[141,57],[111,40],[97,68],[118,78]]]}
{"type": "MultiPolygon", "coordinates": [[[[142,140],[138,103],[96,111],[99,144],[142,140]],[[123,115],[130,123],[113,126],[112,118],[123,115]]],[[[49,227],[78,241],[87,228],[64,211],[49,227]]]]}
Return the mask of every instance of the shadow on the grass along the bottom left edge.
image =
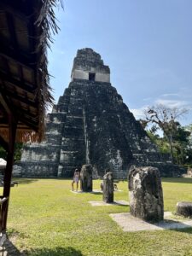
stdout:
{"type": "Polygon", "coordinates": [[[74,249],[73,247],[55,247],[49,248],[36,248],[20,252],[15,245],[7,240],[4,242],[3,247],[0,247],[0,255],[14,255],[14,256],[26,256],[26,255],[37,255],[37,256],[83,256],[83,254],[74,249]]]}

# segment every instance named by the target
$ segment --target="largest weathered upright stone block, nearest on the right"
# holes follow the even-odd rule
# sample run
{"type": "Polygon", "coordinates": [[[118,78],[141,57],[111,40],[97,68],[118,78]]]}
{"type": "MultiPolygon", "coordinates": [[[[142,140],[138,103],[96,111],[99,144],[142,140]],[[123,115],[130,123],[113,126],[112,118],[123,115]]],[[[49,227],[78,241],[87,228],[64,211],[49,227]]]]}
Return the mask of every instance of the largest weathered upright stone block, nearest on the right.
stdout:
{"type": "Polygon", "coordinates": [[[131,215],[151,222],[163,220],[163,192],[158,168],[134,167],[128,179],[131,215]]]}

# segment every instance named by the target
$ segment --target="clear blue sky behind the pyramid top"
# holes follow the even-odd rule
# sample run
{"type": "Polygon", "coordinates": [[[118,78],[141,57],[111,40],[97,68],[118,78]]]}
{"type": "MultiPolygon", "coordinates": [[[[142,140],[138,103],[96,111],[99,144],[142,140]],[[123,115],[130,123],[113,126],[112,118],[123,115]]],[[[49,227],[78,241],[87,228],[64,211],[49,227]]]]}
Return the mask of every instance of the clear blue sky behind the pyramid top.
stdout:
{"type": "MultiPolygon", "coordinates": [[[[111,84],[136,118],[157,103],[192,108],[191,0],[63,0],[61,32],[49,51],[55,102],[85,47],[102,55],[111,84]]],[[[181,120],[192,123],[190,112],[181,120]]]]}

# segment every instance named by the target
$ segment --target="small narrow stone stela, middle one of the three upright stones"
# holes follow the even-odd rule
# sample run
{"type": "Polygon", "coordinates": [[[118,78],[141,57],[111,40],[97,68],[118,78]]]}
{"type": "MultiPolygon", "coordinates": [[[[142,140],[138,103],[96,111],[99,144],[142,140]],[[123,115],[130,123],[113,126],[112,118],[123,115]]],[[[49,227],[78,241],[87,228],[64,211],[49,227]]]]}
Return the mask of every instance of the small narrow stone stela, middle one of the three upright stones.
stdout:
{"type": "Polygon", "coordinates": [[[103,176],[102,201],[113,202],[113,173],[108,172],[103,176]]]}

